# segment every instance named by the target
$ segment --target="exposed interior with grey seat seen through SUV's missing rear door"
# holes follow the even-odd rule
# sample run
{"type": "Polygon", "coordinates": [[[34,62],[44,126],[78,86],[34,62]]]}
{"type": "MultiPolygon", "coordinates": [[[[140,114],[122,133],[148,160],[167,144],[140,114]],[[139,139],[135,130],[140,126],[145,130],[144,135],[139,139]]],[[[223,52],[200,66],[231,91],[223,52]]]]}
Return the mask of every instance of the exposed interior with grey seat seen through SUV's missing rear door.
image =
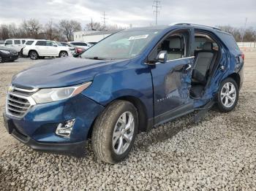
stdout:
{"type": "Polygon", "coordinates": [[[195,63],[192,70],[192,98],[200,98],[219,61],[219,46],[206,34],[195,34],[195,63]]]}

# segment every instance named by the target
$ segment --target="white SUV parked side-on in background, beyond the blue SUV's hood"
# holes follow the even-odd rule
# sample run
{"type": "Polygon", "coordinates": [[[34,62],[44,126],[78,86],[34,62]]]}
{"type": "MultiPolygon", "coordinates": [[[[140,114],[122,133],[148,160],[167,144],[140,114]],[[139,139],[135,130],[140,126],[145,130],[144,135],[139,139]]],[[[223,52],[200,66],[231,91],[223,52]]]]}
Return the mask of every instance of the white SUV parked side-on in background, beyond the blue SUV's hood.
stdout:
{"type": "Polygon", "coordinates": [[[23,55],[29,56],[32,60],[45,57],[67,57],[72,52],[69,47],[61,46],[49,40],[31,40],[23,47],[23,55]]]}

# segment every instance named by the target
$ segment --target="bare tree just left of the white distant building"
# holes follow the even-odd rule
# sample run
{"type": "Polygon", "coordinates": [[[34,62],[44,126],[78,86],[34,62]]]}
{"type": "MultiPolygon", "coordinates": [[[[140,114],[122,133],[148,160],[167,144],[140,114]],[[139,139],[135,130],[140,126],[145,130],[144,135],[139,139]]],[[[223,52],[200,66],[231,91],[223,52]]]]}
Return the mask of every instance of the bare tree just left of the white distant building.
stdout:
{"type": "Polygon", "coordinates": [[[71,41],[75,31],[81,30],[81,25],[76,20],[61,20],[59,29],[66,36],[67,41],[71,41]]]}

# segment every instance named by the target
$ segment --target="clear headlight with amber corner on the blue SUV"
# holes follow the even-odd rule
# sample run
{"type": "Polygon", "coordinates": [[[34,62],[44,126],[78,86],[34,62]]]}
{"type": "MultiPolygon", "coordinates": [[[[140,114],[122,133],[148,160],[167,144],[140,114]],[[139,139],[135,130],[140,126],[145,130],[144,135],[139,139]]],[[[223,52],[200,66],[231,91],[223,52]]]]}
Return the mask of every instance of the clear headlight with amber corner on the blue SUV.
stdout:
{"type": "Polygon", "coordinates": [[[89,87],[89,85],[91,85],[91,82],[86,82],[83,85],[75,85],[69,87],[45,88],[39,90],[31,96],[34,98],[34,101],[36,101],[37,104],[59,101],[78,95],[87,87],[89,87]]]}

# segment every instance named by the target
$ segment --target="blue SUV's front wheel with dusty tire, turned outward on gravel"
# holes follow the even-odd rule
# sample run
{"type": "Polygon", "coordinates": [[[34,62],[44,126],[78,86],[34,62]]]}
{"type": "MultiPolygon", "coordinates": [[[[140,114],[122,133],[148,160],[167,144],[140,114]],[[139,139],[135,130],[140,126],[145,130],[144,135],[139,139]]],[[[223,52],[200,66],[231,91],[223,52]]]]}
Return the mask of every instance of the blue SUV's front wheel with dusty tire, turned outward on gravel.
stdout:
{"type": "Polygon", "coordinates": [[[135,106],[128,101],[113,101],[94,123],[91,136],[94,155],[110,164],[124,160],[133,147],[137,132],[138,113],[135,106]],[[123,123],[124,116],[126,125],[123,123]]]}

